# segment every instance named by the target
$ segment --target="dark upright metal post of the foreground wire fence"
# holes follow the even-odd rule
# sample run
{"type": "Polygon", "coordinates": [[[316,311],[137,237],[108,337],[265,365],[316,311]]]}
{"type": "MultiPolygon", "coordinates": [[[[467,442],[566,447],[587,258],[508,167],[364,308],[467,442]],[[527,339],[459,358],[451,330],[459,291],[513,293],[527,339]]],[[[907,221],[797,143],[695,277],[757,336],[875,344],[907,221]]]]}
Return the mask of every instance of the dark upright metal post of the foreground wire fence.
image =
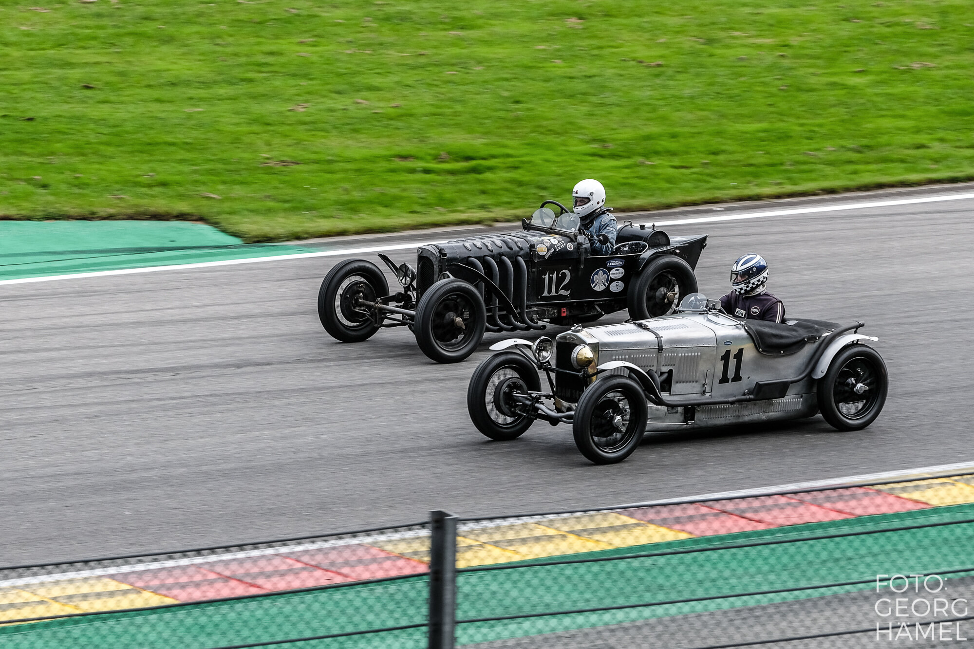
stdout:
{"type": "Polygon", "coordinates": [[[430,513],[430,649],[453,649],[457,610],[457,516],[430,513]]]}

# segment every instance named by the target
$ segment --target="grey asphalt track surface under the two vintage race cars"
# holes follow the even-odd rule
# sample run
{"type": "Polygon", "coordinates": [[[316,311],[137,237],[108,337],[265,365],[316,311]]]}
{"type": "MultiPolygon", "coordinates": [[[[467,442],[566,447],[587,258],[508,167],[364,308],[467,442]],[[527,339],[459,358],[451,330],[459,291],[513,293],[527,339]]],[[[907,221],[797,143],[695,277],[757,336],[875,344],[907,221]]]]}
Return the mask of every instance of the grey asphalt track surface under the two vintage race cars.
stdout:
{"type": "MultiPolygon", "coordinates": [[[[639,220],[763,206],[726,207],[639,220]]],[[[316,297],[341,256],[0,286],[0,565],[353,530],[431,509],[584,509],[968,460],[972,224],[974,200],[958,200],[669,227],[710,235],[697,276],[711,296],[727,290],[733,259],[754,250],[790,316],[868,323],[889,367],[888,401],[857,433],[816,417],[648,437],[606,467],[586,462],[564,425],[493,442],[470,424],[469,375],[514,334],[488,334],[453,365],[428,361],[404,328],[359,344],[330,339],[316,297]]]]}

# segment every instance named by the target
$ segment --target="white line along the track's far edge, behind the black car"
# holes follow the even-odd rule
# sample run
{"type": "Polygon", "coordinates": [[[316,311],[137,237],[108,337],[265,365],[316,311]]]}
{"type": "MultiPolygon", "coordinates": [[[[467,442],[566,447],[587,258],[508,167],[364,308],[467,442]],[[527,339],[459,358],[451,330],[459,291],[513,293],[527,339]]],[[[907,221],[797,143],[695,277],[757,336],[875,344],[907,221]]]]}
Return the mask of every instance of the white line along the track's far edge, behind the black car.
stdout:
{"type": "MultiPolygon", "coordinates": [[[[889,208],[899,205],[916,205],[921,203],[939,203],[942,201],[962,201],[974,199],[974,193],[950,194],[947,196],[929,196],[915,199],[897,199],[892,201],[870,201],[866,203],[849,203],[845,205],[824,206],[819,208],[795,208],[792,210],[750,211],[739,214],[723,214],[720,216],[697,216],[669,221],[654,221],[657,226],[685,225],[687,223],[716,223],[721,221],[737,221],[748,218],[765,218],[768,216],[792,216],[795,214],[816,214],[827,211],[868,210],[870,208],[889,208]]],[[[339,250],[322,250],[321,252],[298,252],[296,254],[279,254],[270,257],[247,257],[244,259],[224,259],[222,261],[202,261],[192,264],[172,264],[169,266],[146,266],[144,268],[120,268],[110,271],[95,271],[92,273],[71,273],[68,275],[47,275],[43,277],[27,277],[19,280],[0,280],[5,284],[31,284],[34,282],[52,282],[55,280],[80,280],[89,277],[108,277],[111,275],[131,275],[133,273],[154,273],[156,271],[186,270],[190,268],[208,268],[211,266],[233,266],[236,264],[254,264],[264,261],[283,261],[286,259],[308,259],[310,257],[333,257],[347,254],[364,254],[365,252],[382,252],[385,250],[401,250],[416,248],[425,244],[441,244],[442,241],[393,244],[390,246],[370,246],[367,248],[345,248],[339,250]]]]}

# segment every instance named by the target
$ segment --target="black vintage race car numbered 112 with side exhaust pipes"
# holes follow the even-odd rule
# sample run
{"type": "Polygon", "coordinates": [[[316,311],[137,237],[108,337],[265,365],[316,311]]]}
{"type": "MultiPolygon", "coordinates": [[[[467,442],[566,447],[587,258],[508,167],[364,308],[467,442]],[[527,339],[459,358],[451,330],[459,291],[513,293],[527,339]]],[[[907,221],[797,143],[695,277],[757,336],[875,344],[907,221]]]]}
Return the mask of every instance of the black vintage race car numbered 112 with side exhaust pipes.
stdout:
{"type": "Polygon", "coordinates": [[[417,268],[380,253],[402,286],[395,292],[372,262],[342,261],[318,291],[321,325],[343,342],[408,326],[433,361],[457,363],[484,331],[589,323],[621,309],[635,320],[669,314],[696,290],[693,269],[707,245],[706,235],[670,238],[625,221],[612,254],[593,254],[579,217],[556,201],[544,201],[521,225],[421,246],[417,268]]]}

